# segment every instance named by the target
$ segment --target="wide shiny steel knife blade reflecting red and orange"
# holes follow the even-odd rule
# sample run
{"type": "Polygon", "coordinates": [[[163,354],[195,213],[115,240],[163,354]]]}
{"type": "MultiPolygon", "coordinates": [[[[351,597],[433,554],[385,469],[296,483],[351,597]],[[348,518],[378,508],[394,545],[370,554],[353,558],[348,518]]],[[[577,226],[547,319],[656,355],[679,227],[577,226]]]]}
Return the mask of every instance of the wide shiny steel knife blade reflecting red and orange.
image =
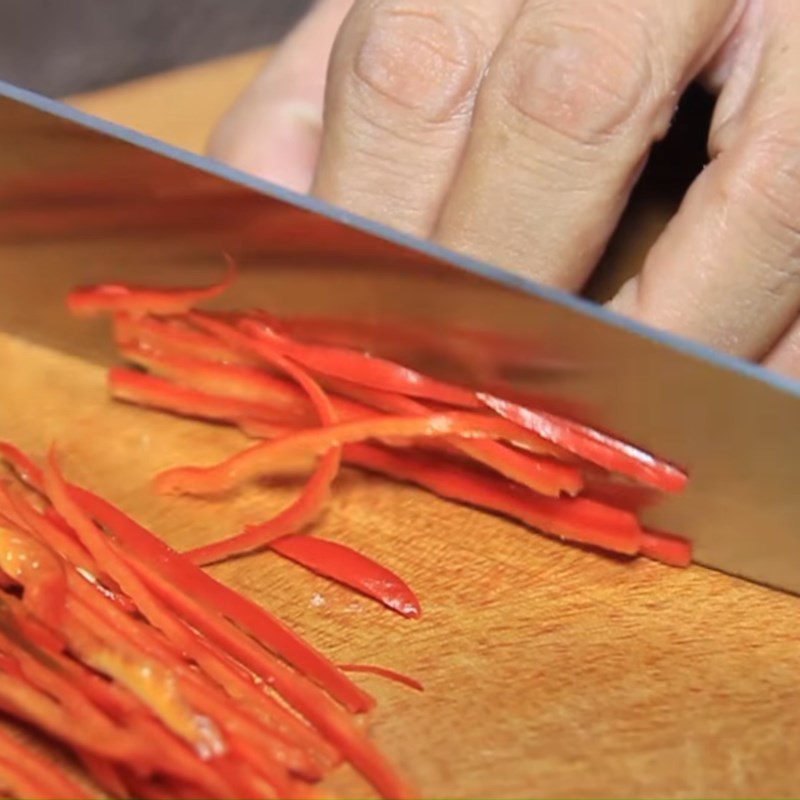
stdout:
{"type": "Polygon", "coordinates": [[[199,284],[221,251],[243,266],[227,307],[532,397],[686,467],[689,489],[645,521],[800,593],[797,383],[0,83],[0,331],[107,363],[70,288],[199,284]]]}

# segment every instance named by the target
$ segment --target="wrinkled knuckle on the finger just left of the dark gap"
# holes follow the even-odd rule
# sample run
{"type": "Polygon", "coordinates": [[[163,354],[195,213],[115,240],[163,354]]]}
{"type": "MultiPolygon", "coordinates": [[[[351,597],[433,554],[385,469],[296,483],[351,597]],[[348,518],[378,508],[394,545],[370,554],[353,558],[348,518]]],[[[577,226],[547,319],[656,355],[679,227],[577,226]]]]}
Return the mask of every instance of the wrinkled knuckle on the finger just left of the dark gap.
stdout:
{"type": "Polygon", "coordinates": [[[650,36],[624,8],[603,14],[591,26],[540,16],[521,26],[499,72],[504,100],[523,124],[594,146],[637,118],[651,78],[650,36]]]}

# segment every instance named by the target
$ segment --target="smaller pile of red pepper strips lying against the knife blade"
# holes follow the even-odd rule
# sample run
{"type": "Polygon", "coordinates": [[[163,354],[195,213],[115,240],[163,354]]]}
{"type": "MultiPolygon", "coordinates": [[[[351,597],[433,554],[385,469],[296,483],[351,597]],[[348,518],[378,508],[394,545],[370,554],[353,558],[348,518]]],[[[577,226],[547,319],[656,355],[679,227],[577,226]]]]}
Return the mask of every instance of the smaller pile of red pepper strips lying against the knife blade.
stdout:
{"type": "MultiPolygon", "coordinates": [[[[633,510],[598,499],[614,496],[609,490],[619,488],[619,478],[628,486],[680,491],[687,477],[679,468],[552,413],[356,349],[301,340],[289,333],[297,325],[261,310],[196,309],[235,278],[229,259],[224,278],[212,286],[106,284],[76,289],[68,298],[76,315],[113,319],[116,344],[130,365],[111,370],[114,397],[228,423],[259,440],[219,464],[158,475],[159,492],[218,495],[298,465],[311,471],[297,499],[277,516],[189,551],[195,564],[270,547],[364,591],[374,581],[360,570],[380,569],[374,562],[356,563],[364,557],[302,535],[323,509],[342,463],[566,541],[675,566],[691,561],[687,541],[647,530],[633,510]]],[[[404,587],[378,599],[414,615],[418,606],[409,592],[404,587]]]]}

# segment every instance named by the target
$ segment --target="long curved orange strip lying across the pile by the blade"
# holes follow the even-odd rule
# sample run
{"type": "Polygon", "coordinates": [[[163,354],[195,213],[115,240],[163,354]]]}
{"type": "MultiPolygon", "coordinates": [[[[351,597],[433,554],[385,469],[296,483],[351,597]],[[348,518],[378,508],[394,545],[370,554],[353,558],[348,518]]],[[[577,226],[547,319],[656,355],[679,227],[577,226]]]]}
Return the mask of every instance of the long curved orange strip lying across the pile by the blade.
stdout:
{"type": "Polygon", "coordinates": [[[487,417],[470,412],[432,414],[427,417],[377,417],[375,419],[345,422],[262,442],[237,453],[212,467],[178,467],[162,472],[156,477],[157,491],[185,494],[223,492],[246,480],[274,470],[285,461],[296,463],[298,458],[319,455],[336,445],[350,444],[366,439],[386,437],[442,437],[442,436],[516,437],[525,444],[545,450],[539,436],[520,431],[513,423],[497,417],[487,417]]]}

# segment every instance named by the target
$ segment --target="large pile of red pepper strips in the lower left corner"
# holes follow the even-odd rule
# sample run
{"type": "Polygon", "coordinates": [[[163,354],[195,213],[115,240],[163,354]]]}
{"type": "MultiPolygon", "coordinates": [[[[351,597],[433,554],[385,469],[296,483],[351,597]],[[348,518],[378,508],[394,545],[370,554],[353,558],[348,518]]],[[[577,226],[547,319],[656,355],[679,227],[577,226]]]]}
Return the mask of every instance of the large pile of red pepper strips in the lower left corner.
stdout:
{"type": "Polygon", "coordinates": [[[356,717],[372,699],[321,653],[68,483],[54,454],[0,457],[0,720],[91,778],[0,729],[0,795],[319,797],[347,761],[411,796],[356,717]]]}

